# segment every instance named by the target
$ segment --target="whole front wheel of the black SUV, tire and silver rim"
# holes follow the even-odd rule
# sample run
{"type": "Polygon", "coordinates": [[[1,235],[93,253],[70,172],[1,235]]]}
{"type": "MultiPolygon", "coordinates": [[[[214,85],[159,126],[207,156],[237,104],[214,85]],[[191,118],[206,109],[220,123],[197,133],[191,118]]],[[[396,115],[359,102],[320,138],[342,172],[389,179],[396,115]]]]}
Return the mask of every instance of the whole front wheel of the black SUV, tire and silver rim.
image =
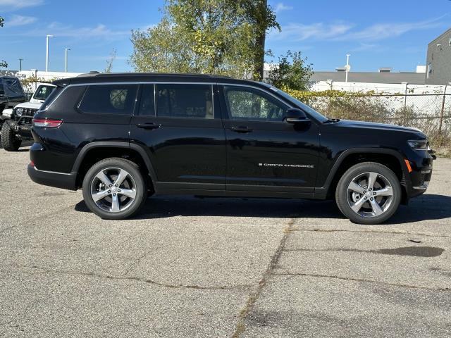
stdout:
{"type": "Polygon", "coordinates": [[[379,224],[400,206],[401,185],[395,173],[381,163],[364,162],[342,175],[335,191],[340,211],[353,223],[379,224]]]}

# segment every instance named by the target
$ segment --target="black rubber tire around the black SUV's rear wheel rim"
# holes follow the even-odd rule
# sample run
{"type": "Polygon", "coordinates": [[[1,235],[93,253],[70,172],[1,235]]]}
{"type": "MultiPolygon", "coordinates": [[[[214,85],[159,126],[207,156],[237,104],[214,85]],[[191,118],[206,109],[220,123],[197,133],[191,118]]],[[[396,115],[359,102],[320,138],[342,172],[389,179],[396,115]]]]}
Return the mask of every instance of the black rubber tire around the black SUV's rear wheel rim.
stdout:
{"type": "Polygon", "coordinates": [[[82,192],[83,199],[85,200],[85,204],[89,210],[99,217],[108,220],[121,220],[131,217],[140,210],[147,198],[147,187],[145,186],[140,168],[132,161],[128,161],[123,158],[107,158],[92,165],[83,180],[82,192]],[[95,175],[97,175],[97,173],[99,173],[102,169],[111,167],[126,170],[132,176],[133,180],[135,180],[136,184],[135,201],[133,201],[133,204],[125,211],[120,211],[118,213],[109,213],[108,211],[102,210],[97,206],[91,196],[91,182],[95,175]]]}

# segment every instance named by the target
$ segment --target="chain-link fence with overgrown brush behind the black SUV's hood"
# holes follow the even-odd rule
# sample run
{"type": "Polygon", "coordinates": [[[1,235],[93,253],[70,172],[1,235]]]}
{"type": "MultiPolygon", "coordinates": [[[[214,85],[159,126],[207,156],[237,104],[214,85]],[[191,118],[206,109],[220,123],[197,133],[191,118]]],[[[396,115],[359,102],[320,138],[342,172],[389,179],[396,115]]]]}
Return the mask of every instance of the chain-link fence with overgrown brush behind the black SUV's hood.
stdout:
{"type": "Polygon", "coordinates": [[[299,95],[302,97],[298,99],[328,118],[416,127],[428,135],[434,146],[451,149],[451,94],[309,92],[299,95]]]}

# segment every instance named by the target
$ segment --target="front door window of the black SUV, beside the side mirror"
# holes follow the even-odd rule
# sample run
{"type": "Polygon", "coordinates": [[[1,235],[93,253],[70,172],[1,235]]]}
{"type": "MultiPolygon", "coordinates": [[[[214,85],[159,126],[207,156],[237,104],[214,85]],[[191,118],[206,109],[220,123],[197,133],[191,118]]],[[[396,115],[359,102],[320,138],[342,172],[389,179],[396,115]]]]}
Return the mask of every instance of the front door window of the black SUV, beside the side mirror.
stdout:
{"type": "Polygon", "coordinates": [[[282,121],[287,106],[257,89],[225,87],[230,118],[233,120],[282,121]]]}

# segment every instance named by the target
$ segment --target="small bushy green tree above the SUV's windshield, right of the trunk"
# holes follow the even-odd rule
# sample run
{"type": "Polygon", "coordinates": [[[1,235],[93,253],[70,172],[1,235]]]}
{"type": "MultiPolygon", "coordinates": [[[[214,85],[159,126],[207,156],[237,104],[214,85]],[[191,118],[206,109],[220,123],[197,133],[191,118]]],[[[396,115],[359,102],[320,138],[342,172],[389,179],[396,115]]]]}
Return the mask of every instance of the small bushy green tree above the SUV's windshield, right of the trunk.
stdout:
{"type": "Polygon", "coordinates": [[[269,71],[268,82],[275,87],[306,90],[312,74],[312,65],[302,57],[302,52],[288,51],[269,71]]]}

